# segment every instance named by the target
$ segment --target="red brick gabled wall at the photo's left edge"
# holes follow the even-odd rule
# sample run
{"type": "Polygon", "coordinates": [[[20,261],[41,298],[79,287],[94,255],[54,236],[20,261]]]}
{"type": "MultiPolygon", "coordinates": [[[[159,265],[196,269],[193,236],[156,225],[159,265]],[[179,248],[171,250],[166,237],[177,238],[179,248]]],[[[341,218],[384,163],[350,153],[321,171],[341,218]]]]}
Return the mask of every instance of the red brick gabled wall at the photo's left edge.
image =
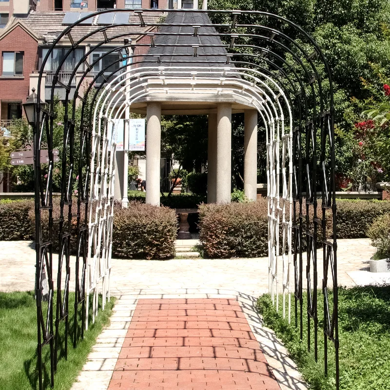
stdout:
{"type": "Polygon", "coordinates": [[[24,102],[29,91],[30,73],[37,69],[38,65],[38,42],[32,38],[20,26],[17,26],[3,39],[0,40],[1,62],[0,62],[0,100],[3,110],[0,112],[0,118],[6,119],[7,112],[4,112],[3,103],[14,101],[24,102]],[[4,77],[2,75],[2,53],[3,52],[24,52],[23,58],[23,76],[4,77]]]}

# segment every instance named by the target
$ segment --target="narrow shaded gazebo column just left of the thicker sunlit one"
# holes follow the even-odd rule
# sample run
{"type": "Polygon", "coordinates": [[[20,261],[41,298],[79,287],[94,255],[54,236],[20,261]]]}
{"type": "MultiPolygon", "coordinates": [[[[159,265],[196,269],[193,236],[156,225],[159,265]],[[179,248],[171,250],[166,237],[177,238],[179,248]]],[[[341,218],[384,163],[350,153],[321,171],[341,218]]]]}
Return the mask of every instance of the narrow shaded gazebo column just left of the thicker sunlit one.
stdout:
{"type": "Polygon", "coordinates": [[[216,114],[209,114],[207,142],[207,203],[216,202],[216,114]]]}

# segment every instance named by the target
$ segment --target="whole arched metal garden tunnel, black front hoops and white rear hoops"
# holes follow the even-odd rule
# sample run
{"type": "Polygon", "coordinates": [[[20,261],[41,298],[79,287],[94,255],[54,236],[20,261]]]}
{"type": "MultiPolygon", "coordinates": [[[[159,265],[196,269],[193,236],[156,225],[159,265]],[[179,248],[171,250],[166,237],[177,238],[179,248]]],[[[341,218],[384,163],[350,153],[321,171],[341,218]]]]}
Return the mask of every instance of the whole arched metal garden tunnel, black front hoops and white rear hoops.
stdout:
{"type": "MultiPolygon", "coordinates": [[[[98,314],[98,291],[102,283],[101,292],[104,302],[110,295],[112,219],[114,213],[113,191],[115,170],[116,143],[108,139],[115,133],[115,119],[122,116],[124,110],[141,96],[165,91],[167,94],[180,94],[183,90],[175,85],[174,73],[183,75],[188,83],[187,90],[197,88],[207,81],[211,85],[210,93],[218,93],[220,86],[226,80],[232,84],[232,93],[252,104],[261,117],[261,123],[266,131],[267,146],[267,184],[268,184],[268,248],[269,248],[269,277],[270,292],[273,302],[279,309],[279,292],[283,296],[282,313],[290,321],[291,293],[294,293],[295,324],[300,327],[303,337],[303,253],[306,255],[306,278],[308,292],[308,349],[311,349],[311,318],[314,324],[314,354],[317,359],[318,349],[318,318],[317,318],[317,246],[320,243],[323,251],[323,281],[322,291],[324,300],[324,327],[325,340],[325,373],[328,374],[327,342],[331,340],[335,347],[335,376],[336,388],[339,388],[338,369],[338,300],[337,300],[337,261],[336,261],[336,202],[334,181],[334,106],[331,81],[331,70],[324,58],[321,49],[308,33],[299,26],[277,15],[262,11],[227,11],[227,10],[164,10],[167,19],[161,23],[148,22],[143,18],[144,12],[161,12],[151,10],[104,10],[95,14],[88,14],[65,30],[54,41],[43,60],[38,84],[38,102],[35,107],[34,126],[34,153],[35,153],[35,216],[36,216],[36,283],[41,285],[43,264],[47,269],[49,280],[49,303],[47,313],[42,310],[42,297],[37,289],[37,331],[38,331],[38,365],[39,388],[43,389],[42,381],[42,347],[50,345],[51,356],[51,386],[54,385],[54,372],[57,369],[59,349],[59,324],[65,322],[64,346],[67,353],[67,338],[69,333],[68,294],[69,280],[75,277],[75,330],[73,334],[74,346],[77,346],[78,337],[83,337],[84,329],[88,327],[89,294],[93,293],[93,320],[98,314]],[[89,61],[92,53],[112,42],[114,39],[126,39],[128,34],[111,35],[113,25],[98,26],[98,16],[110,12],[137,15],[137,23],[123,23],[119,26],[155,28],[151,33],[144,31],[132,32],[132,35],[146,35],[150,43],[137,43],[127,40],[123,45],[111,47],[107,52],[99,55],[95,61],[89,61]],[[172,23],[170,15],[182,13],[183,20],[189,13],[195,15],[200,23],[172,23]],[[229,23],[212,23],[216,15],[225,15],[229,23]],[[262,16],[265,20],[276,21],[280,26],[289,25],[305,47],[310,47],[308,53],[296,40],[267,25],[240,24],[245,16],[262,16]],[[73,29],[85,20],[92,20],[91,25],[96,27],[82,39],[74,41],[73,29]],[[95,24],[94,24],[95,20],[95,24]],[[156,29],[158,27],[158,29],[156,29]],[[173,32],[174,27],[186,27],[191,32],[173,32]],[[265,35],[258,35],[262,33],[265,35]],[[103,35],[104,39],[96,44],[78,62],[67,85],[59,81],[59,71],[66,58],[82,42],[93,36],[103,35]],[[214,37],[218,44],[169,44],[160,38],[165,36],[214,37]],[[51,52],[56,48],[60,39],[67,37],[71,48],[59,63],[53,78],[49,109],[40,105],[40,86],[44,66],[51,52]],[[253,39],[256,45],[244,44],[244,40],[253,39]],[[222,43],[222,42],[226,43],[222,43]],[[135,55],[131,50],[136,47],[160,47],[165,50],[169,47],[188,49],[186,54],[177,55],[164,52],[156,54],[135,55]],[[190,51],[191,49],[191,51],[190,51]],[[229,52],[228,52],[229,50],[229,52]],[[204,53],[201,53],[204,51],[204,53]],[[214,52],[215,51],[215,52],[214,52]],[[71,95],[71,83],[76,77],[80,66],[85,66],[83,77],[87,77],[93,66],[105,56],[118,53],[116,62],[119,69],[107,73],[110,64],[102,69],[92,83],[80,94],[81,81],[76,91],[71,95]],[[164,66],[164,56],[170,57],[170,66],[164,66]],[[210,60],[209,57],[213,57],[210,60]],[[314,57],[324,66],[325,76],[320,74],[313,62],[314,57]],[[204,71],[197,66],[206,58],[213,63],[213,71],[204,71]],[[290,59],[293,60],[291,62],[290,59]],[[183,67],[191,63],[194,66],[193,74],[189,75],[183,67]],[[95,87],[95,81],[103,77],[104,81],[95,87]],[[196,81],[194,81],[196,79],[196,81]],[[322,82],[329,84],[329,98],[326,100],[322,91],[322,82]],[[61,86],[66,90],[65,117],[63,135],[63,153],[61,156],[61,200],[60,218],[53,220],[53,104],[55,87],[61,86]],[[95,89],[95,91],[94,91],[95,89]],[[81,121],[75,118],[76,99],[82,102],[81,121]],[[69,105],[72,102],[72,107],[69,105]],[[92,104],[89,106],[89,102],[92,104]],[[89,110],[89,111],[88,111],[89,110]],[[68,111],[71,116],[68,116],[68,111]],[[112,126],[112,131],[110,127],[112,126]],[[78,135],[80,147],[75,155],[75,135],[78,135]],[[317,145],[317,137],[320,145],[317,145]],[[49,149],[49,170],[47,178],[42,177],[40,167],[40,149],[46,138],[49,149]],[[77,212],[72,209],[72,188],[74,181],[74,165],[78,163],[78,193],[77,212]],[[321,211],[317,207],[317,197],[321,197],[321,211]],[[42,211],[47,211],[43,214],[42,211]],[[329,211],[331,213],[329,213],[329,211]],[[331,214],[331,216],[329,216],[331,214]],[[48,218],[49,232],[41,228],[41,219],[48,218]],[[77,218],[76,232],[72,231],[72,217],[77,218]],[[327,219],[331,219],[333,235],[327,232],[327,219]],[[53,224],[58,224],[59,236],[53,236],[53,224]],[[71,238],[77,242],[76,262],[70,264],[71,238]],[[59,245],[58,256],[58,283],[56,319],[53,326],[54,286],[52,275],[53,247],[59,245]],[[282,275],[278,273],[278,263],[282,265],[282,275]],[[61,291],[62,268],[65,265],[64,291],[61,291]],[[72,269],[73,268],[73,269],[72,269]],[[294,272],[294,289],[290,285],[290,274],[294,272]],[[328,280],[329,268],[331,278],[328,280]],[[73,272],[73,274],[72,274],[73,272]],[[312,276],[311,276],[312,275],[312,276]],[[280,278],[280,276],[282,276],[280,278]],[[312,280],[313,279],[313,280],[312,280]],[[279,283],[282,289],[279,288],[279,283]],[[332,308],[328,296],[328,284],[332,288],[332,308]],[[286,305],[287,299],[287,305],[286,305]],[[81,313],[79,306],[81,305],[81,313]],[[287,306],[287,307],[286,307],[287,306]],[[299,320],[298,320],[299,312],[299,320]],[[81,322],[81,324],[79,324],[81,322]]],[[[118,24],[115,25],[117,27],[118,24]]],[[[281,27],[280,27],[281,28],[281,27]]],[[[200,38],[199,38],[200,39],[200,38]]]]}

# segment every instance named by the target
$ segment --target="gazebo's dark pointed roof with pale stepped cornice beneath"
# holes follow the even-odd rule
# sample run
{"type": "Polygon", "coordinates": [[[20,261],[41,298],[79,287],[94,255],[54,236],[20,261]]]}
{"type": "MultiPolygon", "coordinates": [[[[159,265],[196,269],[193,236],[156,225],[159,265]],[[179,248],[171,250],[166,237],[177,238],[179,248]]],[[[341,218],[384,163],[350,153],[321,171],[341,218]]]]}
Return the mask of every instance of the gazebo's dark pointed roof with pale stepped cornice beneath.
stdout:
{"type": "Polygon", "coordinates": [[[137,69],[149,69],[136,84],[151,92],[132,103],[134,112],[145,113],[148,101],[161,102],[168,115],[213,113],[220,102],[231,103],[233,113],[254,108],[236,93],[242,88],[237,86],[241,77],[229,63],[217,31],[207,26],[212,24],[207,13],[169,13],[164,23],[170,25],[151,33],[152,46],[138,65],[137,69]]]}

